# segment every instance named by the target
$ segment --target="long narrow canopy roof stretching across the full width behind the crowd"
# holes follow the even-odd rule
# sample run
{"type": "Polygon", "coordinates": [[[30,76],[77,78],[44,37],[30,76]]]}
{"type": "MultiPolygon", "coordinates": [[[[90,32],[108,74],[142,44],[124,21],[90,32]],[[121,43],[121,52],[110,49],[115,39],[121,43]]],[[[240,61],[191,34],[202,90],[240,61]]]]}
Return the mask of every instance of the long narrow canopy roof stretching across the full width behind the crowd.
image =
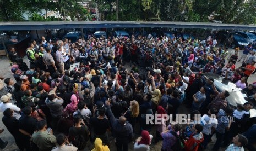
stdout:
{"type": "Polygon", "coordinates": [[[45,30],[61,28],[213,28],[226,30],[256,30],[254,25],[219,24],[211,22],[171,22],[171,21],[26,21],[0,22],[0,31],[45,30]]]}

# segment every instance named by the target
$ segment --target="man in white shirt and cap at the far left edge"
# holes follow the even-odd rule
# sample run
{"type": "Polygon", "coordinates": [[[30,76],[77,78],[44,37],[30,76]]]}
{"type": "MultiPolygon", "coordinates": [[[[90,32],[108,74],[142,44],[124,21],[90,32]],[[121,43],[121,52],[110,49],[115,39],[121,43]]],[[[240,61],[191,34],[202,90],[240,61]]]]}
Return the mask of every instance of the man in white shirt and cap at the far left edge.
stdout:
{"type": "Polygon", "coordinates": [[[0,100],[2,101],[2,103],[0,103],[0,112],[4,112],[4,110],[6,110],[7,108],[13,109],[13,116],[16,119],[19,119],[21,117],[21,109],[15,106],[14,104],[10,103],[10,97],[12,97],[12,94],[8,93],[7,95],[3,95],[0,98],[0,100]]]}

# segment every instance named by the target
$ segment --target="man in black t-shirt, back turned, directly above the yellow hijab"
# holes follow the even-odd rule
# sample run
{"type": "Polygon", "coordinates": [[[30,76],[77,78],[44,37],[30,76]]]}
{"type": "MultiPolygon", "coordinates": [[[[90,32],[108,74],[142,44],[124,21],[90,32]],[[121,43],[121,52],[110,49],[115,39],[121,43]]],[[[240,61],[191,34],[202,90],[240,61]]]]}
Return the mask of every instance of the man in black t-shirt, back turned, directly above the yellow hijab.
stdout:
{"type": "Polygon", "coordinates": [[[106,118],[104,118],[105,112],[105,107],[99,108],[99,115],[98,117],[92,117],[90,119],[90,126],[93,127],[93,140],[95,140],[95,138],[100,138],[103,143],[105,143],[107,146],[110,146],[110,142],[108,141],[107,136],[107,130],[110,130],[110,123],[106,118]]]}

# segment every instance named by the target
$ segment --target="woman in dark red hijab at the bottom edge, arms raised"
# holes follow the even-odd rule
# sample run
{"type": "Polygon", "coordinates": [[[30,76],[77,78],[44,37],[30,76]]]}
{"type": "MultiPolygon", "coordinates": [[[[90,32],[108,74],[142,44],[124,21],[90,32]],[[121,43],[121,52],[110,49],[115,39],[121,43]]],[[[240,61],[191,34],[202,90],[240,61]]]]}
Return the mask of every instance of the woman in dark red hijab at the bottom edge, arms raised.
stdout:
{"type": "Polygon", "coordinates": [[[149,151],[149,145],[151,144],[153,136],[149,135],[149,132],[146,130],[143,130],[141,132],[141,136],[137,138],[135,144],[134,144],[134,151],[149,151]]]}

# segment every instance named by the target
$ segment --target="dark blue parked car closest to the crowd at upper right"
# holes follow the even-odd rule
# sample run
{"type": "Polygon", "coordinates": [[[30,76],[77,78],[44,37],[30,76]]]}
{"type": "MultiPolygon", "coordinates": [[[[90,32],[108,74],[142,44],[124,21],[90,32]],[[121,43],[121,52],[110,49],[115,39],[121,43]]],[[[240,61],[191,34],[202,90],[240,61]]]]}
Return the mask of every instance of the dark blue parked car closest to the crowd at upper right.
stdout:
{"type": "Polygon", "coordinates": [[[231,43],[230,47],[231,48],[239,48],[243,49],[248,45],[249,43],[247,42],[246,38],[243,38],[237,33],[230,33],[230,36],[233,35],[233,42],[231,43]]]}

